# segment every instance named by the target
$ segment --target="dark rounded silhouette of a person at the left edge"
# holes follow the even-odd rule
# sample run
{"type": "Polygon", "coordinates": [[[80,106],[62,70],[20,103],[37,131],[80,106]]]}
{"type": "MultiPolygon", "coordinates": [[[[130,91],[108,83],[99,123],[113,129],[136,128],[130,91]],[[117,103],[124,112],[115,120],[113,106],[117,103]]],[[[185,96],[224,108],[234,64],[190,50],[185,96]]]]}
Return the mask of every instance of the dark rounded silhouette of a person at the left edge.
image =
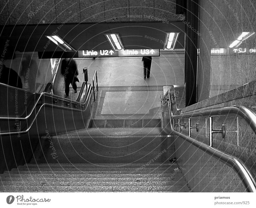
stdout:
{"type": "Polygon", "coordinates": [[[22,89],[22,82],[18,73],[12,68],[5,67],[4,64],[0,65],[0,82],[22,89]]]}

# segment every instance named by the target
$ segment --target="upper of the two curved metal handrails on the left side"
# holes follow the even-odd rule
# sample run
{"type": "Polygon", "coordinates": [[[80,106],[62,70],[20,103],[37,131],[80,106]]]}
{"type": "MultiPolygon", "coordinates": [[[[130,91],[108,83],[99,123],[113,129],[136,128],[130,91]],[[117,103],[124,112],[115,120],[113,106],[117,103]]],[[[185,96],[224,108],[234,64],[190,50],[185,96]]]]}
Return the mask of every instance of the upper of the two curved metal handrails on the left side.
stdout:
{"type": "Polygon", "coordinates": [[[36,103],[34,104],[33,108],[31,109],[31,111],[29,112],[29,114],[26,116],[26,117],[0,117],[0,119],[9,119],[9,120],[12,120],[12,119],[19,119],[19,120],[26,120],[27,118],[29,118],[31,116],[31,114],[33,113],[33,111],[35,110],[36,108],[36,105],[38,104],[38,102],[40,101],[41,97],[43,96],[46,96],[46,97],[51,97],[51,98],[56,98],[56,99],[61,99],[61,100],[64,100],[66,102],[70,102],[72,104],[81,104],[80,102],[77,102],[77,101],[73,101],[73,100],[69,100],[67,98],[64,98],[64,97],[60,97],[58,95],[52,95],[48,92],[41,92],[39,97],[37,98],[36,100],[36,103]]]}

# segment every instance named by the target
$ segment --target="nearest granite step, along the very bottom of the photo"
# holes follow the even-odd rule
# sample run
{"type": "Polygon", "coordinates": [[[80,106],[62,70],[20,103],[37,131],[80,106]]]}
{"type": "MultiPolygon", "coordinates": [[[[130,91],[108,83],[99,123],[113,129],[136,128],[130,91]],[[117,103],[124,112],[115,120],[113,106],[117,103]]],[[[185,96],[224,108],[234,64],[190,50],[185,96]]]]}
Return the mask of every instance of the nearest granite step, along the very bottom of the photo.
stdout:
{"type": "Polygon", "coordinates": [[[188,186],[0,186],[0,192],[189,192],[188,186]]]}

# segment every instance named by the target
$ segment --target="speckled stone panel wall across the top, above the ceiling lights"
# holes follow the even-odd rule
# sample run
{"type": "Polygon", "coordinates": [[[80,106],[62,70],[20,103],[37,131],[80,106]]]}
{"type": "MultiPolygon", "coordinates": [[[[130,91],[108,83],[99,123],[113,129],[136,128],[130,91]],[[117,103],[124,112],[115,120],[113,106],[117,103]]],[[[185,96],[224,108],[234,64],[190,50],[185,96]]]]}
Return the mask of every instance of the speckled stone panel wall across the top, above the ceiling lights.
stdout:
{"type": "Polygon", "coordinates": [[[178,20],[176,0],[3,0],[0,8],[0,25],[57,24],[73,14],[69,23],[178,20]]]}

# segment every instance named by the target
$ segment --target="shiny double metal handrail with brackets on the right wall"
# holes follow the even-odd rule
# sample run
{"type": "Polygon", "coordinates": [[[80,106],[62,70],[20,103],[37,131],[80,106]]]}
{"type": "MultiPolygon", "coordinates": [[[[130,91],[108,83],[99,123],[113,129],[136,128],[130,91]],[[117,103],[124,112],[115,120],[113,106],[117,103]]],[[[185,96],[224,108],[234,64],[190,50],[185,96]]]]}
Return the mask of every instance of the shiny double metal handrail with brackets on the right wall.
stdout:
{"type": "MultiPolygon", "coordinates": [[[[162,97],[162,96],[161,96],[162,97]]],[[[170,125],[172,129],[172,133],[180,136],[181,138],[185,139],[186,141],[190,142],[197,148],[203,150],[207,154],[212,155],[216,159],[224,162],[229,167],[233,168],[240,179],[242,180],[247,192],[256,192],[256,182],[254,180],[255,176],[250,172],[250,170],[246,167],[244,162],[237,157],[224,153],[221,150],[218,150],[214,147],[212,147],[212,133],[223,133],[223,130],[213,130],[212,129],[212,122],[210,122],[210,144],[209,146],[199,142],[193,138],[191,138],[191,127],[196,128],[196,126],[191,126],[190,118],[197,117],[197,116],[209,116],[210,121],[212,117],[217,115],[238,115],[244,118],[244,120],[249,124],[249,126],[252,128],[254,134],[256,134],[256,114],[251,109],[245,107],[245,106],[229,106],[229,107],[222,107],[222,108],[214,108],[214,109],[208,109],[208,110],[202,110],[202,111],[196,111],[196,112],[189,112],[189,113],[181,113],[181,115],[173,115],[173,106],[172,106],[172,95],[171,91],[168,90],[168,92],[165,94],[165,96],[161,99],[161,106],[164,106],[168,103],[168,109],[169,109],[169,117],[170,117],[170,125]],[[189,136],[180,133],[180,128],[182,126],[180,124],[181,118],[188,118],[188,130],[189,130],[189,136]],[[178,119],[178,128],[179,131],[174,130],[174,119],[178,119]]]]}

